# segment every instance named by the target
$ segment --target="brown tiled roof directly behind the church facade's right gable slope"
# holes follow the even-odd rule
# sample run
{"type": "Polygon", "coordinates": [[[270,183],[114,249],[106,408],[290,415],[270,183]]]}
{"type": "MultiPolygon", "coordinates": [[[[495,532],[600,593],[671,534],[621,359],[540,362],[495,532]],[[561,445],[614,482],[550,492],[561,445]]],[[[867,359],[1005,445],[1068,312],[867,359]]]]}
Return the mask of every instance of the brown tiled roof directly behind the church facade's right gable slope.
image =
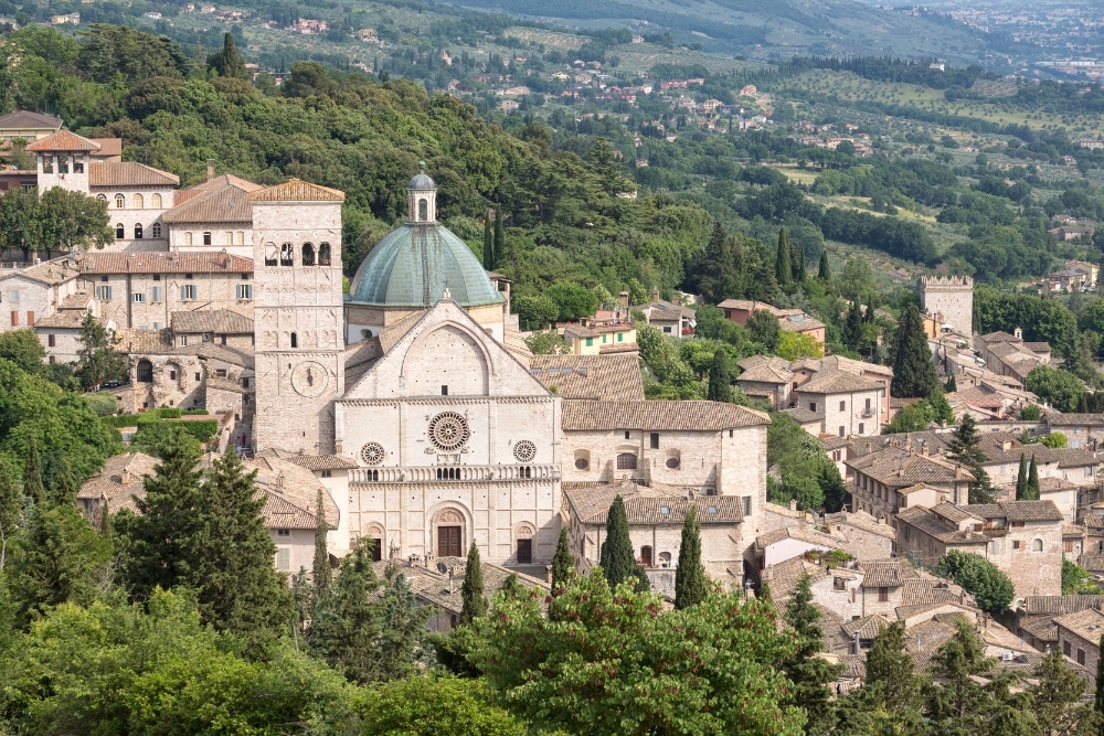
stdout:
{"type": "Polygon", "coordinates": [[[606,402],[644,401],[636,355],[533,355],[529,372],[564,398],[606,402]]]}

